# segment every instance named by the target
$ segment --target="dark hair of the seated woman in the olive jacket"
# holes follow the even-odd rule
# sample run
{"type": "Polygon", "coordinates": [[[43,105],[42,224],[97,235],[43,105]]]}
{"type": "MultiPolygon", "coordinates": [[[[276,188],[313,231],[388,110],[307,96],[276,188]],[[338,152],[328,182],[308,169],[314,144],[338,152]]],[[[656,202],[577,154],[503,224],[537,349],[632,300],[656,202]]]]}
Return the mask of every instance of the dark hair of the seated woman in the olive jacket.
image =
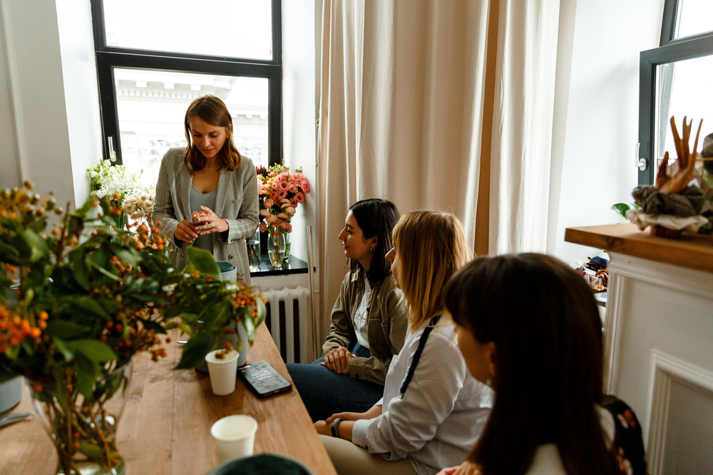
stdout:
{"type": "MultiPolygon", "coordinates": [[[[399,221],[399,209],[386,199],[369,198],[352,204],[349,210],[359,224],[364,239],[379,236],[374,255],[371,256],[369,271],[366,273],[369,282],[379,282],[391,273],[391,263],[386,261],[384,256],[394,246],[391,241],[391,231],[396,221],[399,221]]],[[[356,259],[349,259],[349,268],[352,272],[356,272],[361,268],[361,264],[356,259]]]]}

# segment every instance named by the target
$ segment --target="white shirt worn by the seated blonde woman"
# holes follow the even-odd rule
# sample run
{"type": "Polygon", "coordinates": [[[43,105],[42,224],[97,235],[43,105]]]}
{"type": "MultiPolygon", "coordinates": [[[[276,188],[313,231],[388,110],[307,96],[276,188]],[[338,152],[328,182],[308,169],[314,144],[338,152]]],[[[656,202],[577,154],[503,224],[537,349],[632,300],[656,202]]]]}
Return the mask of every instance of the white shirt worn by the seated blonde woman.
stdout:
{"type": "Polygon", "coordinates": [[[383,413],[354,423],[354,444],[386,460],[409,458],[417,473],[435,474],[461,464],[473,448],[493,407],[493,391],[468,373],[453,338],[453,323],[441,322],[429,335],[403,399],[401,383],[414,359],[425,323],[407,333],[404,348],[391,360],[383,413]]]}

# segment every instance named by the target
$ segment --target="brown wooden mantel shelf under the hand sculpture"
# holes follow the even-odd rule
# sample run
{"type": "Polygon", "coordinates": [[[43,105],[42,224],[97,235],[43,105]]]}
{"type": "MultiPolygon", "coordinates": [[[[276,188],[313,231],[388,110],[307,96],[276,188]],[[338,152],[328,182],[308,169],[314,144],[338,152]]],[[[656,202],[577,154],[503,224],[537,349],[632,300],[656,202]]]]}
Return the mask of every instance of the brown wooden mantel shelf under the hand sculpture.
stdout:
{"type": "Polygon", "coordinates": [[[702,234],[684,233],[677,239],[667,239],[652,236],[648,230],[640,231],[634,224],[622,223],[568,228],[565,241],[713,272],[713,238],[702,234]]]}

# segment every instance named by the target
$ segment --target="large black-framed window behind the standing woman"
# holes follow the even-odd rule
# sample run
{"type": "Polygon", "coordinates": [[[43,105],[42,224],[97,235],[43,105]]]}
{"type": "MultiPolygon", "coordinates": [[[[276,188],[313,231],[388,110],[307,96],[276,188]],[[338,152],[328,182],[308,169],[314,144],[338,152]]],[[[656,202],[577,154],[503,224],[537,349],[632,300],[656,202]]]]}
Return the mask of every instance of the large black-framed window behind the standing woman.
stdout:
{"type": "Polygon", "coordinates": [[[255,165],[282,157],[280,0],[91,0],[103,155],[158,178],[203,94],[225,101],[255,165]]]}

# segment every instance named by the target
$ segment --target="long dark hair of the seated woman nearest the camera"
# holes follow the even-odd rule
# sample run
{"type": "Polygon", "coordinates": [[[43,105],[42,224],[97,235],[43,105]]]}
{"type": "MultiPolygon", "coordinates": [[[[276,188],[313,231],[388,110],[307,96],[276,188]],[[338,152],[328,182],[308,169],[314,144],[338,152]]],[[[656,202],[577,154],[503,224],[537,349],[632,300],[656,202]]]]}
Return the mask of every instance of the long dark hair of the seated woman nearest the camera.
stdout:
{"type": "Polygon", "coordinates": [[[446,307],[495,343],[496,400],[468,459],[484,474],[523,474],[553,443],[568,474],[619,473],[595,406],[602,324],[581,276],[543,254],[481,257],[448,283],[446,307]]]}

